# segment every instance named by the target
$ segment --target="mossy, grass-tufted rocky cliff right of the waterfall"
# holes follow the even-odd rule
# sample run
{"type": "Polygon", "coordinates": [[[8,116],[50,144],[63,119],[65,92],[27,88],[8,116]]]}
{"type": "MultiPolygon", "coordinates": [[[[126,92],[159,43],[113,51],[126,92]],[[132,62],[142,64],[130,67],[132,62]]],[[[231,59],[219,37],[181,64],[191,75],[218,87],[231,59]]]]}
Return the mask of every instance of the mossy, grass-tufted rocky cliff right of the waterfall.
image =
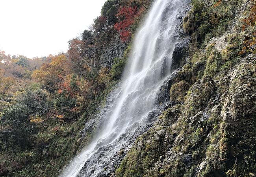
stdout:
{"type": "Polygon", "coordinates": [[[192,5],[183,18],[190,42],[176,46],[173,66],[180,68],[165,88],[172,104],[122,152],[112,176],[256,175],[255,27],[243,26],[255,2],[192,5]]]}

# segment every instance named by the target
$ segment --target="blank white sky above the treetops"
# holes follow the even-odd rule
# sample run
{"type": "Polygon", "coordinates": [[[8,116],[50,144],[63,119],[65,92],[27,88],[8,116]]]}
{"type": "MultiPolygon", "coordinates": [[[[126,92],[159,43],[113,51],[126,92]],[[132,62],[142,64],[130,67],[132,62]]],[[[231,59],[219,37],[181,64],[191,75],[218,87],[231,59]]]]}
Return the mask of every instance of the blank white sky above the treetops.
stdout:
{"type": "Polygon", "coordinates": [[[0,50],[43,57],[66,52],[106,0],[0,0],[0,50]]]}

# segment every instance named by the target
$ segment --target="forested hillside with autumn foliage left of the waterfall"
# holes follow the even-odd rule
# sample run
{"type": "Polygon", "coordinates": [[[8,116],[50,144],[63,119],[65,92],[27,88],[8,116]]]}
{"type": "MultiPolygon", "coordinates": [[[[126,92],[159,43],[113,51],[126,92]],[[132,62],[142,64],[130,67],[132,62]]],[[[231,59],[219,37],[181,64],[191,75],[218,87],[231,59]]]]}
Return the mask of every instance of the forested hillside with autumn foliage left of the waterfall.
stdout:
{"type": "Polygon", "coordinates": [[[67,53],[29,59],[1,51],[0,176],[57,175],[89,141],[79,131],[121,78],[129,41],[149,6],[147,0],[106,1],[67,53]],[[121,54],[104,65],[101,56],[112,41],[123,46],[121,54]]]}

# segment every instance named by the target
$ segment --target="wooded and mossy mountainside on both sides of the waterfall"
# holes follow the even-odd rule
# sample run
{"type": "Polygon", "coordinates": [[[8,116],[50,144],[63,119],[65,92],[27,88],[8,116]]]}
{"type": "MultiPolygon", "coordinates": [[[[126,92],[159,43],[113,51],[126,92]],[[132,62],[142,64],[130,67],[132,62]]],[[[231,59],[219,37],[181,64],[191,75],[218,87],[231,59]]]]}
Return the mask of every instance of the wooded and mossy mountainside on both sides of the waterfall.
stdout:
{"type": "MultiPolygon", "coordinates": [[[[107,0],[66,53],[0,51],[0,176],[58,176],[89,144],[151,5],[107,0]]],[[[192,0],[180,20],[160,113],[102,177],[256,176],[256,1],[192,0]]]]}

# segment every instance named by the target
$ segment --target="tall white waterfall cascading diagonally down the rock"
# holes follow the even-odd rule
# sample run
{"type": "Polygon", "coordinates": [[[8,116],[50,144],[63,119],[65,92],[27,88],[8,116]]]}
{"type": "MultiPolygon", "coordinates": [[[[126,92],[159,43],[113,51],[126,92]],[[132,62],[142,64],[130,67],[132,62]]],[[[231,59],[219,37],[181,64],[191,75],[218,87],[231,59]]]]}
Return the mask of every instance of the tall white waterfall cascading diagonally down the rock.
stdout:
{"type": "Polygon", "coordinates": [[[101,128],[61,173],[62,177],[99,176],[122,147],[132,145],[129,137],[138,133],[138,127],[148,123],[160,87],[171,75],[173,49],[178,42],[176,27],[188,1],[155,0],[135,36],[122,81],[108,96],[108,111],[100,114],[101,128]]]}

